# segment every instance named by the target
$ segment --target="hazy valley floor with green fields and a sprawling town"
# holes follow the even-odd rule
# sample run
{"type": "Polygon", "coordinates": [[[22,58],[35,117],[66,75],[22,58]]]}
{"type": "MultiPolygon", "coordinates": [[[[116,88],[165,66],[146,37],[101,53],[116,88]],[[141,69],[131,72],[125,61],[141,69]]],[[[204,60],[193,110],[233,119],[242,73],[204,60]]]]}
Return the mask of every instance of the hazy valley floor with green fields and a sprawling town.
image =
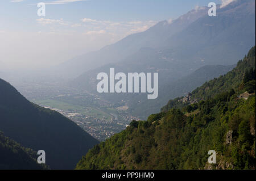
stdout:
{"type": "Polygon", "coordinates": [[[126,106],[114,107],[97,95],[69,87],[27,83],[18,90],[31,102],[68,117],[99,141],[121,132],[131,120],[138,120],[126,111],[126,106]]]}

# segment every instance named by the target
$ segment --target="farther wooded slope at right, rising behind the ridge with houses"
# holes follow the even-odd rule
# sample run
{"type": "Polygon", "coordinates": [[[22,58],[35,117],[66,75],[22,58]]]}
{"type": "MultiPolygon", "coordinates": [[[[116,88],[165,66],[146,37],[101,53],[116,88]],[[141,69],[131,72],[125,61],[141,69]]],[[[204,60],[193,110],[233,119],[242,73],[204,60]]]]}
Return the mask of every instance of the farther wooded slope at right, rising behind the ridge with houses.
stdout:
{"type": "MultiPolygon", "coordinates": [[[[249,92],[255,91],[255,47],[250,49],[243,60],[238,61],[236,68],[232,71],[221,75],[219,78],[205,82],[204,85],[192,91],[192,100],[213,98],[221,92],[231,89],[234,89],[237,94],[245,92],[245,90],[249,92]]],[[[178,101],[180,99],[181,98],[170,100],[168,104],[162,108],[162,111],[168,111],[172,107],[183,107],[186,105],[186,103],[180,103],[178,101]]]]}

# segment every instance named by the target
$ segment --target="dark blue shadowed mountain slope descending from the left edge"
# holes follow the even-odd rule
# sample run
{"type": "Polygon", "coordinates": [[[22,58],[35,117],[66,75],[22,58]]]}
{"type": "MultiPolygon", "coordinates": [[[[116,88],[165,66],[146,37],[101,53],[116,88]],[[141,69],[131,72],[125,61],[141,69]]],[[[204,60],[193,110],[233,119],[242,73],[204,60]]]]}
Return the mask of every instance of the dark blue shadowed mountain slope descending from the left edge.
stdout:
{"type": "Polygon", "coordinates": [[[88,149],[98,143],[59,112],[39,107],[0,79],[0,130],[35,151],[46,151],[51,169],[73,169],[88,149]]]}

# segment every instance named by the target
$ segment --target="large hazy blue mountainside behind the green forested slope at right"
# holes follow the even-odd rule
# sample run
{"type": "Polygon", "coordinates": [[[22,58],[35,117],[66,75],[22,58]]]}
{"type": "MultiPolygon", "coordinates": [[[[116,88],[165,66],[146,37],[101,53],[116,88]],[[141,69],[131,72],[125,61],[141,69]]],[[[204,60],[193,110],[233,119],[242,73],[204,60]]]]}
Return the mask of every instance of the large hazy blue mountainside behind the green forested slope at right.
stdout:
{"type": "MultiPolygon", "coordinates": [[[[141,47],[133,54],[126,54],[126,58],[120,58],[113,64],[107,64],[108,61],[106,61],[106,65],[86,71],[70,81],[69,86],[80,91],[97,94],[97,74],[109,73],[110,68],[115,68],[116,72],[126,74],[128,72],[158,72],[159,97],[156,100],[146,100],[146,94],[98,94],[116,107],[128,105],[129,110],[127,111],[131,115],[142,119],[146,118],[148,113],[156,112],[158,111],[156,108],[166,104],[166,100],[181,96],[186,91],[192,91],[196,86],[209,80],[201,79],[197,84],[191,85],[191,89],[183,91],[182,86],[178,83],[181,78],[190,79],[195,70],[207,65],[236,64],[237,57],[243,57],[255,45],[255,1],[239,0],[223,8],[218,6],[217,16],[214,17],[208,16],[207,9],[200,7],[199,10],[190,11],[171,24],[160,22],[147,32],[133,35],[137,37],[137,41],[141,41],[141,37],[146,33],[148,36],[145,35],[145,37],[150,41],[156,35],[163,35],[165,38],[158,37],[160,44],[156,43],[151,46],[151,43],[148,43],[147,48],[141,47]],[[187,26],[184,26],[185,22],[188,22],[187,26]],[[182,28],[177,28],[181,25],[182,28]],[[170,36],[167,35],[168,32],[170,32],[170,36]],[[176,89],[176,87],[180,87],[180,89],[176,89]],[[122,105],[119,100],[123,100],[122,105]],[[147,104],[151,104],[152,107],[148,107],[147,104]]],[[[122,48],[122,45],[129,47],[132,42],[137,42],[131,38],[133,36],[117,43],[119,48],[122,48]],[[127,43],[123,43],[126,41],[127,43]]],[[[100,52],[98,53],[100,56],[100,52]]],[[[101,58],[104,60],[104,56],[101,58]]],[[[220,75],[217,74],[218,71],[210,72],[215,77],[220,75]]]]}

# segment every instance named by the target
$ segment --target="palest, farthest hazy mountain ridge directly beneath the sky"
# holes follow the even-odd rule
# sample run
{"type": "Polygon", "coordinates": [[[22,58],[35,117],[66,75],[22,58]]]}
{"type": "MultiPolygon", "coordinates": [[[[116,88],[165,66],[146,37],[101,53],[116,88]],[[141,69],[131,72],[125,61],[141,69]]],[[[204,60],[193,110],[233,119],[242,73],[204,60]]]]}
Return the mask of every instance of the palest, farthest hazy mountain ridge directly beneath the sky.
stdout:
{"type": "Polygon", "coordinates": [[[164,40],[184,30],[189,24],[207,14],[207,11],[205,7],[204,9],[189,11],[187,14],[172,22],[164,20],[149,28],[147,31],[129,35],[117,43],[107,45],[98,51],[77,56],[53,68],[53,70],[55,74],[59,72],[64,76],[77,77],[85,71],[102,65],[120,62],[126,57],[136,53],[141,48],[159,47],[164,40]],[[187,18],[188,16],[189,18],[187,18]]]}

